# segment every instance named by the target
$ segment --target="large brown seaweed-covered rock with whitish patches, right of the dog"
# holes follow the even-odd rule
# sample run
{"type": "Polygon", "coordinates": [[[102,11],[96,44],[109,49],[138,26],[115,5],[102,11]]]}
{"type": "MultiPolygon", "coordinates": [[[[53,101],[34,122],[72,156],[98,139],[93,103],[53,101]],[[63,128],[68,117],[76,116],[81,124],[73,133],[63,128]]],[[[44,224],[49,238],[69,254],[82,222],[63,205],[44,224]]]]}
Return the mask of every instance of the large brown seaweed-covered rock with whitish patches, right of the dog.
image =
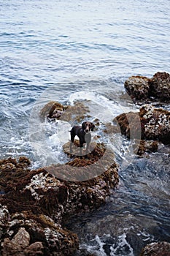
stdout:
{"type": "MultiPolygon", "coordinates": [[[[152,105],[143,105],[139,112],[120,114],[115,121],[117,121],[121,133],[127,138],[157,140],[164,144],[170,144],[170,112],[168,110],[154,108],[152,105]]],[[[146,147],[146,143],[142,143],[141,146],[146,147]]],[[[150,146],[154,151],[158,144],[152,142],[150,146]]]]}

